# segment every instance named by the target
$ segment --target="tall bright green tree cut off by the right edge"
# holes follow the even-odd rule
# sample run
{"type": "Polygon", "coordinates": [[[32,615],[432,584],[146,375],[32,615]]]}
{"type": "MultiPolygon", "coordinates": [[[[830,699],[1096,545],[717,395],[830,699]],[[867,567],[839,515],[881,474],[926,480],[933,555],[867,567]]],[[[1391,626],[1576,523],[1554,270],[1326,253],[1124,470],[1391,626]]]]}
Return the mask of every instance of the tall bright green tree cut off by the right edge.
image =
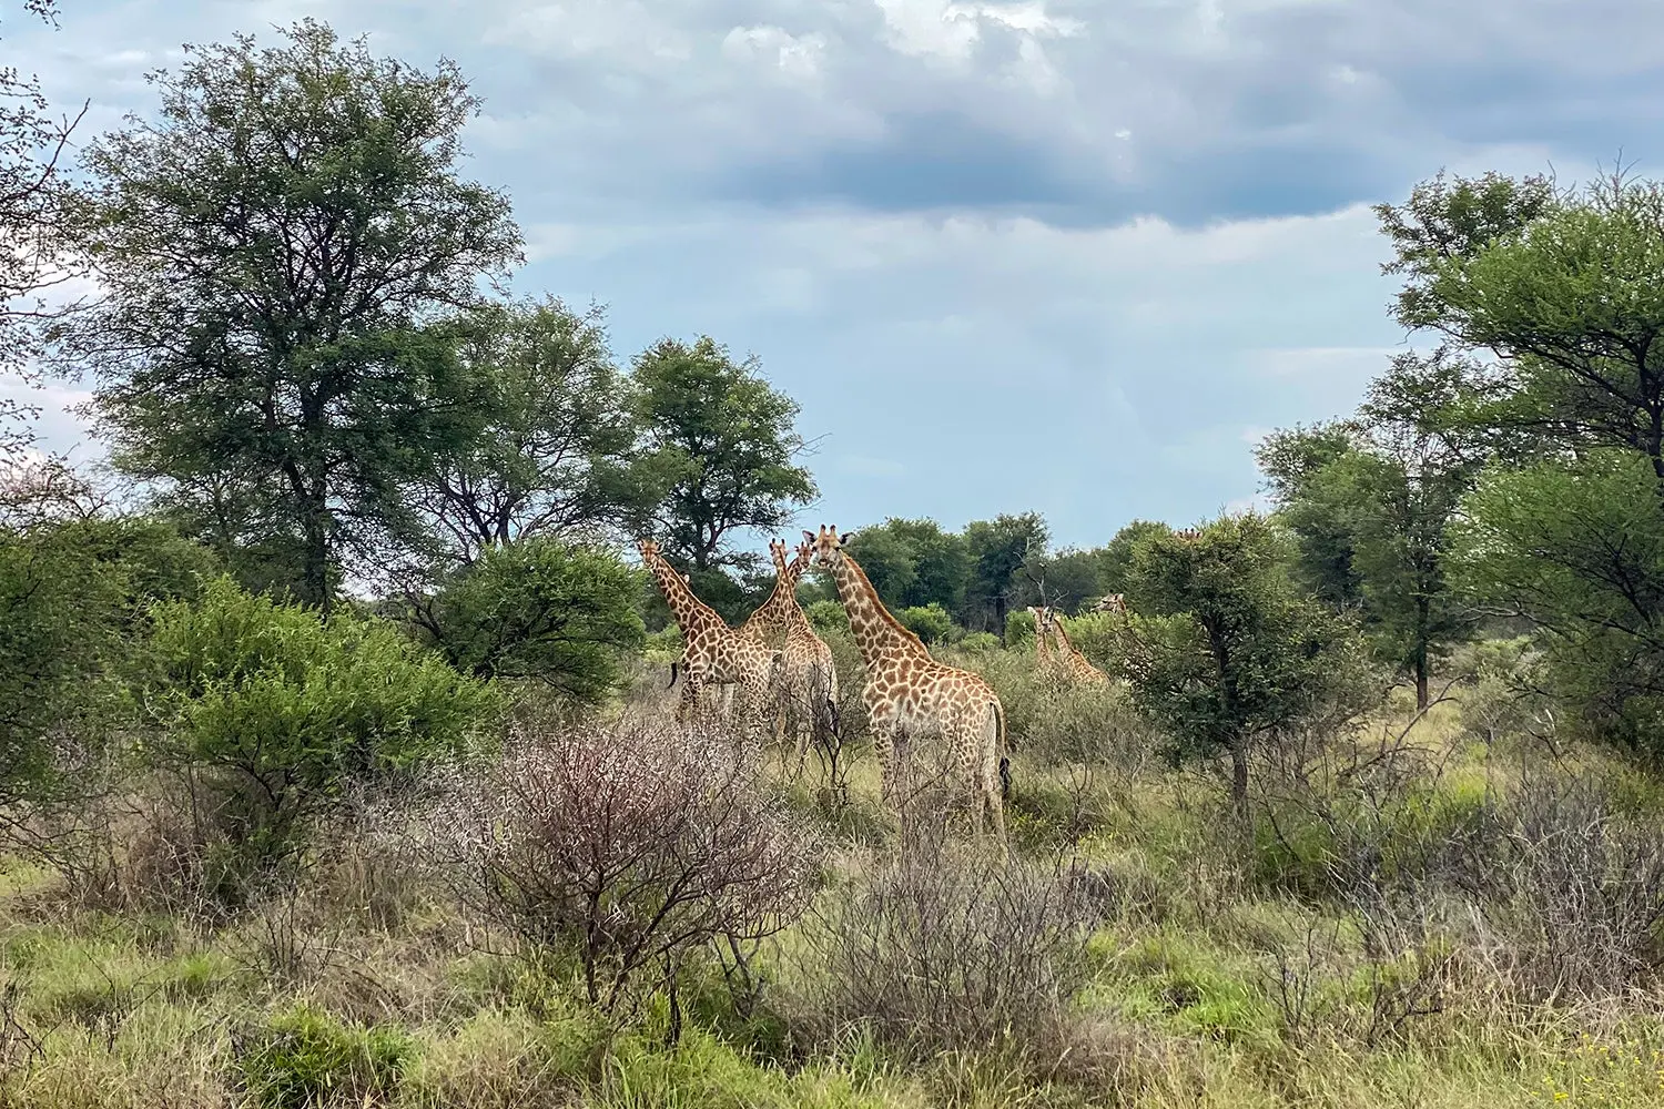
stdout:
{"type": "Polygon", "coordinates": [[[1396,316],[1444,346],[1394,364],[1373,402],[1493,467],[1466,505],[1461,580],[1543,628],[1551,673],[1597,728],[1664,750],[1647,677],[1664,622],[1649,554],[1664,530],[1664,186],[1436,178],[1379,214],[1404,279],[1396,316]]]}

